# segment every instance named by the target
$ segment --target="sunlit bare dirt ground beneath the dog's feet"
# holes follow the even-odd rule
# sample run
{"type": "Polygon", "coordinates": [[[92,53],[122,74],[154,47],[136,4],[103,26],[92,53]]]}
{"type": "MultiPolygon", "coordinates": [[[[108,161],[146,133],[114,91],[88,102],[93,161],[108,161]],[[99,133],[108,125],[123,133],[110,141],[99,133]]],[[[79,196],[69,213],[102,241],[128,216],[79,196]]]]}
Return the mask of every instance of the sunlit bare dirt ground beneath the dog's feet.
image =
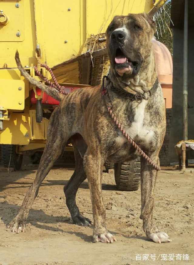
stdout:
{"type": "MultiPolygon", "coordinates": [[[[154,220],[171,236],[172,242],[166,244],[147,240],[142,231],[140,189],[119,192],[114,171],[103,173],[107,227],[117,239],[113,244],[103,244],[91,243],[92,226],[71,222],[63,185],[72,175],[73,166],[50,171],[39,189],[24,233],[12,233],[6,228],[18,212],[36,169],[35,165],[26,165],[9,175],[0,172],[0,265],[194,264],[194,170],[182,173],[163,168],[159,172],[154,220]],[[185,260],[185,254],[189,260],[185,260]],[[146,257],[149,260],[143,260],[146,257]]],[[[87,181],[78,191],[77,204],[80,212],[92,219],[87,181]]]]}

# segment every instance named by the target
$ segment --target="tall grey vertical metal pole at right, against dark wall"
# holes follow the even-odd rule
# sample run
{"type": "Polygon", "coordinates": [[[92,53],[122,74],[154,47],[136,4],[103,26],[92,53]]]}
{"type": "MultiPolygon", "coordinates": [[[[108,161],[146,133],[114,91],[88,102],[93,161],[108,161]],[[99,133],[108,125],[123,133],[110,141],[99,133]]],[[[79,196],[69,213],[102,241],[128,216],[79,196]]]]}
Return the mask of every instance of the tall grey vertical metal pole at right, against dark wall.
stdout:
{"type": "Polygon", "coordinates": [[[183,140],[188,140],[188,0],[185,0],[183,42],[183,140]]]}

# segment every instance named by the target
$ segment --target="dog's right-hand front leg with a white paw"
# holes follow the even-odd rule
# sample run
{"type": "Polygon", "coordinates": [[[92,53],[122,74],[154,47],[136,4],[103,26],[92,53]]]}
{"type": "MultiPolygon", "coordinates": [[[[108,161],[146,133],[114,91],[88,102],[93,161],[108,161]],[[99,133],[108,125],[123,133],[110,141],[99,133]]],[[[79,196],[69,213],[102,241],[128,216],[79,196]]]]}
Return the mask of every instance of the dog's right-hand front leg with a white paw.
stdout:
{"type": "MultiPolygon", "coordinates": [[[[159,164],[158,155],[152,155],[150,158],[156,164],[159,164]]],[[[146,232],[149,239],[152,239],[155,243],[166,243],[171,241],[169,236],[165,232],[158,231],[153,224],[154,189],[157,173],[157,170],[141,157],[142,208],[140,219],[143,219],[143,231],[146,232]]]]}

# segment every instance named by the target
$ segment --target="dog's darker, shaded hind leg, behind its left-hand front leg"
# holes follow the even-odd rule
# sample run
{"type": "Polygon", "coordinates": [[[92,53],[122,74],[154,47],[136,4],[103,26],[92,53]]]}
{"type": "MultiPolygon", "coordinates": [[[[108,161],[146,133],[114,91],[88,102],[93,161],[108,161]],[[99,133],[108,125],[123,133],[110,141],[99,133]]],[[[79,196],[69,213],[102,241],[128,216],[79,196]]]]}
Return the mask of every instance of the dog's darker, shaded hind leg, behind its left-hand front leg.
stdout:
{"type": "Polygon", "coordinates": [[[75,201],[75,196],[78,188],[80,184],[86,179],[86,174],[83,167],[83,158],[81,157],[79,150],[75,144],[73,144],[73,148],[75,154],[75,171],[67,185],[64,186],[66,204],[74,224],[77,224],[79,226],[89,226],[91,224],[91,221],[81,215],[75,201]]]}

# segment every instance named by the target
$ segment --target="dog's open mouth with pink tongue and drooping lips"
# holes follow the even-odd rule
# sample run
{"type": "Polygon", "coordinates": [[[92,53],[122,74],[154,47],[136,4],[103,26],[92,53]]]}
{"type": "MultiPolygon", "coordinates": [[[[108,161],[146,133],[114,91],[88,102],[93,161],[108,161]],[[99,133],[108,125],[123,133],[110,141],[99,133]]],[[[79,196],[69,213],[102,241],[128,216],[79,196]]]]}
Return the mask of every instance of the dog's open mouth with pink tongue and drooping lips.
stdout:
{"type": "Polygon", "coordinates": [[[132,74],[136,72],[138,63],[132,62],[129,58],[125,56],[120,48],[116,50],[115,54],[115,69],[120,76],[124,73],[132,74]]]}

